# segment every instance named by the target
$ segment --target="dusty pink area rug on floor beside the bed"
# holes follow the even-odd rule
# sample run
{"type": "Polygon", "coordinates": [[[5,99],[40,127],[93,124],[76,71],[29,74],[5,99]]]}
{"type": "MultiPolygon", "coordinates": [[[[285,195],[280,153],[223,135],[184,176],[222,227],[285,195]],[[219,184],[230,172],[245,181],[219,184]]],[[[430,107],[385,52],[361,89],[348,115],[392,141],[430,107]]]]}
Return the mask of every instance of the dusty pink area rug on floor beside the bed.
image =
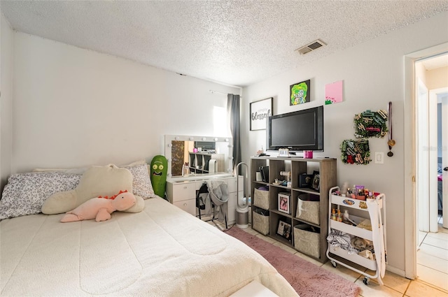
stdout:
{"type": "Polygon", "coordinates": [[[347,297],[360,293],[360,287],[344,277],[330,273],[246,231],[233,227],[226,233],[261,254],[285,277],[300,297],[347,297]]]}

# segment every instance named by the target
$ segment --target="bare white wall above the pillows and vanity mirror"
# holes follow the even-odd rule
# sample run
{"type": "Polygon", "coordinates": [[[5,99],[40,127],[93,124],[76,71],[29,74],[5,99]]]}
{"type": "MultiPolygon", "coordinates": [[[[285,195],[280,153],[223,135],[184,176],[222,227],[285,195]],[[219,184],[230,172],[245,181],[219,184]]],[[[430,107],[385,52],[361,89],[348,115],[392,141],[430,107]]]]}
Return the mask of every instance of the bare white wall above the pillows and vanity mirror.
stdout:
{"type": "Polygon", "coordinates": [[[165,134],[214,136],[227,96],[210,89],[240,92],[15,32],[12,173],[150,162],[165,134]]]}

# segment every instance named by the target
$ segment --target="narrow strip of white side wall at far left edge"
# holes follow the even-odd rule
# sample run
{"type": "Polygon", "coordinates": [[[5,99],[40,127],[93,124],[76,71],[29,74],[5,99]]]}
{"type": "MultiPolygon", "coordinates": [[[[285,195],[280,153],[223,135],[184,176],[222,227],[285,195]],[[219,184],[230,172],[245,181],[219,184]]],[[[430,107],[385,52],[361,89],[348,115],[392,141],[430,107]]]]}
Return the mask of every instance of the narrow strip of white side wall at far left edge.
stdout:
{"type": "Polygon", "coordinates": [[[13,140],[13,30],[0,13],[0,190],[11,171],[13,140]]]}

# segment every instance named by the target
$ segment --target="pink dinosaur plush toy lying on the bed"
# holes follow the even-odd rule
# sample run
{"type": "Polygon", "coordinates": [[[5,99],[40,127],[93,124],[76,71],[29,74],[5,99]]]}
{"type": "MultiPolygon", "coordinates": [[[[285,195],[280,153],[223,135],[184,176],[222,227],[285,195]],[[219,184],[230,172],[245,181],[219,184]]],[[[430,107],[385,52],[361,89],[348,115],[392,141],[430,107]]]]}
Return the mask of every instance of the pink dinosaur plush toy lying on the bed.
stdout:
{"type": "Polygon", "coordinates": [[[85,203],[79,205],[74,210],[66,212],[61,222],[76,222],[84,219],[95,219],[97,222],[107,221],[111,219],[111,213],[116,210],[127,210],[136,203],[134,194],[126,191],[120,191],[112,197],[91,198],[85,203]]]}

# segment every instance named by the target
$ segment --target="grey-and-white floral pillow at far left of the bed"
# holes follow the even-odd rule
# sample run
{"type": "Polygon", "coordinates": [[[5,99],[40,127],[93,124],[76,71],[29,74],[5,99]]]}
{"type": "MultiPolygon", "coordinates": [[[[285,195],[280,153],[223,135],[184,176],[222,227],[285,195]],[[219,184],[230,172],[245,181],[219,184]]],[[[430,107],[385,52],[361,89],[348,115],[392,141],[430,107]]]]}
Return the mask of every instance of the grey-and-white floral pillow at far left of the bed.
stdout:
{"type": "Polygon", "coordinates": [[[41,212],[48,197],[75,189],[81,176],[57,171],[10,175],[0,200],[0,219],[41,212]]]}

